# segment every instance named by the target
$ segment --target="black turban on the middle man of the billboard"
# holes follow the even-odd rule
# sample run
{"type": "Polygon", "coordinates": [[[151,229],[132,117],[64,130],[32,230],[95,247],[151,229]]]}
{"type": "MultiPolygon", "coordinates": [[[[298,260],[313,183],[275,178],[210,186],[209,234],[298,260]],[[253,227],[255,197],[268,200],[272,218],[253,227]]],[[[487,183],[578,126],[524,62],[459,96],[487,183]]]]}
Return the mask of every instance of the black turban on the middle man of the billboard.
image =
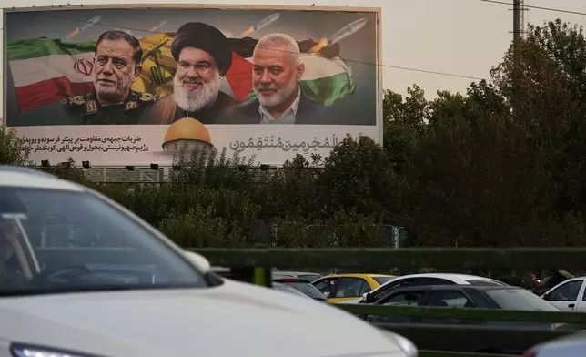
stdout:
{"type": "Polygon", "coordinates": [[[171,53],[176,61],[185,47],[196,47],[206,51],[216,61],[221,76],[226,75],[232,65],[232,48],[226,36],[214,26],[194,22],[179,27],[171,44],[171,53]]]}

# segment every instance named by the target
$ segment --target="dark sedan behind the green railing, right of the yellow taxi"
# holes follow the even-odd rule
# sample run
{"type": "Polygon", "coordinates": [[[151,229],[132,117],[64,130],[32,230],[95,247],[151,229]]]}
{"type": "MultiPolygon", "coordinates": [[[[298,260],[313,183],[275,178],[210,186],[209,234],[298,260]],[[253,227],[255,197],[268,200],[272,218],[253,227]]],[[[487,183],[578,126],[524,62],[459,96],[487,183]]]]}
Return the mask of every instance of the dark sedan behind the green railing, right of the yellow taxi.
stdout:
{"type": "MultiPolygon", "coordinates": [[[[432,285],[397,288],[375,301],[373,305],[443,307],[457,309],[501,309],[520,311],[560,311],[548,301],[530,291],[513,286],[499,285],[432,285]]],[[[453,352],[490,352],[521,354],[531,345],[542,342],[543,334],[533,332],[527,338],[508,334],[510,329],[529,329],[534,331],[553,331],[561,329],[561,324],[550,322],[524,321],[487,321],[479,319],[455,319],[407,316],[360,316],[366,321],[391,326],[392,331],[413,341],[421,350],[453,352]],[[406,325],[409,323],[410,326],[406,325]],[[405,324],[405,325],[403,325],[405,324]],[[437,333],[421,333],[412,324],[441,324],[437,333]],[[403,327],[404,326],[404,327],[403,327]],[[451,327],[485,326],[501,330],[497,339],[485,339],[481,333],[451,331],[451,327]],[[450,337],[451,336],[451,337],[450,337]]],[[[382,327],[382,326],[381,326],[382,327]]]]}

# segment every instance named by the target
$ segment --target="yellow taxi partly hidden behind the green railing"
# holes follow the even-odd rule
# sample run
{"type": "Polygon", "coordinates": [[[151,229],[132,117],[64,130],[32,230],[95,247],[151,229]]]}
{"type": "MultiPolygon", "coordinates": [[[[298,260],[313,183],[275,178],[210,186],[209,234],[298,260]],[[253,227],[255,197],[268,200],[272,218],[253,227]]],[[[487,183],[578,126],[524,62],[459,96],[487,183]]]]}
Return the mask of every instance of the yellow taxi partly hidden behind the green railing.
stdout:
{"type": "Polygon", "coordinates": [[[396,275],[382,274],[335,274],[326,275],[312,282],[329,302],[354,300],[365,292],[378,288],[396,275]]]}

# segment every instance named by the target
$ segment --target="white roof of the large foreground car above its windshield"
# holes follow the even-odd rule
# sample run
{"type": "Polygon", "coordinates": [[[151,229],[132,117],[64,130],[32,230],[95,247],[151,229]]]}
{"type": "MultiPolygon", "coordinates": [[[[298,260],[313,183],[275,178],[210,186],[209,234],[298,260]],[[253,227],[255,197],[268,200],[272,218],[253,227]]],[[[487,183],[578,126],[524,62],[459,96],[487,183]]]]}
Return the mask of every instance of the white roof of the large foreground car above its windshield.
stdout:
{"type": "Polygon", "coordinates": [[[74,182],[59,179],[35,168],[0,165],[0,188],[56,189],[83,192],[86,189],[74,182]]]}

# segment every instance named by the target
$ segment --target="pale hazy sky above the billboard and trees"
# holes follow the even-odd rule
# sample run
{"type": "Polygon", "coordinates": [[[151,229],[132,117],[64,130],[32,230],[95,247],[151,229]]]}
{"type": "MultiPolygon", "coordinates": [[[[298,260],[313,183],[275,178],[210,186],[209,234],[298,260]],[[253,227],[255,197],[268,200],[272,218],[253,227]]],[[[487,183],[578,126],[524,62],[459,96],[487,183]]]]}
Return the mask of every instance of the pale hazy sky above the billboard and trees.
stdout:
{"type": "MultiPolygon", "coordinates": [[[[512,0],[503,0],[512,3],[512,0]]],[[[125,3],[131,3],[126,0],[125,3]]],[[[2,7],[47,5],[116,4],[120,1],[0,0],[2,7]]],[[[160,0],[140,0],[139,4],[161,4],[160,0]]],[[[173,0],[173,4],[189,3],[173,0]]],[[[244,4],[242,0],[206,0],[210,5],[244,4]]],[[[481,0],[255,0],[247,5],[312,5],[380,7],[382,10],[382,83],[384,88],[406,94],[414,84],[422,87],[429,99],[438,90],[465,92],[474,78],[488,78],[512,39],[510,5],[481,0]],[[426,72],[428,71],[428,72],[426,72]],[[452,76],[429,72],[441,72],[452,76]],[[465,77],[458,77],[465,76],[465,77]]],[[[584,0],[525,0],[527,6],[550,7],[581,12],[571,15],[530,8],[526,22],[562,21],[586,26],[584,0]]],[[[4,24],[2,25],[4,27],[4,24]]],[[[1,47],[0,47],[1,48],[1,47]]]]}

